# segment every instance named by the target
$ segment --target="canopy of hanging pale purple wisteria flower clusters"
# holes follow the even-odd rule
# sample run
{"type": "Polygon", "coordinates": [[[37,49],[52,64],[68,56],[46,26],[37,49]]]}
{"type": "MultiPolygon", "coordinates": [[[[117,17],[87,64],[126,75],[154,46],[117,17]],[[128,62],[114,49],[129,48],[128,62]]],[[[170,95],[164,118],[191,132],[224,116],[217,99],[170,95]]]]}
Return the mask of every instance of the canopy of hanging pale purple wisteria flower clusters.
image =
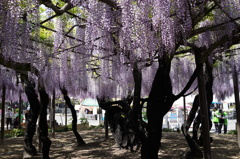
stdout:
{"type": "MultiPolygon", "coordinates": [[[[236,29],[232,20],[240,15],[239,2],[231,0],[218,2],[217,9],[198,23],[196,19],[212,1],[113,0],[114,7],[106,1],[69,2],[80,10],[75,13],[78,18],[65,13],[54,18],[49,25],[53,36],[42,42],[38,0],[0,1],[0,54],[15,62],[31,63],[50,94],[66,87],[73,96],[124,97],[134,88],[132,71],[137,63],[143,73],[142,96],[147,96],[158,68],[157,58],[168,57],[171,61],[179,45],[192,43],[209,48],[225,35],[232,37],[236,29]],[[191,39],[194,31],[212,25],[218,27],[191,39]]],[[[47,9],[44,14],[52,16],[54,12],[47,9]]],[[[188,57],[172,60],[174,93],[188,81],[195,68],[193,61],[188,57]]],[[[235,63],[239,63],[238,57],[235,63]]],[[[217,70],[227,73],[225,65],[217,70]]],[[[29,76],[38,83],[34,74],[29,76]]],[[[216,80],[229,81],[229,77],[216,80]]],[[[14,81],[15,73],[11,79],[14,81]]],[[[221,87],[224,93],[219,96],[232,93],[226,93],[229,84],[221,87]]],[[[216,92],[221,92],[219,88],[216,92]]]]}

